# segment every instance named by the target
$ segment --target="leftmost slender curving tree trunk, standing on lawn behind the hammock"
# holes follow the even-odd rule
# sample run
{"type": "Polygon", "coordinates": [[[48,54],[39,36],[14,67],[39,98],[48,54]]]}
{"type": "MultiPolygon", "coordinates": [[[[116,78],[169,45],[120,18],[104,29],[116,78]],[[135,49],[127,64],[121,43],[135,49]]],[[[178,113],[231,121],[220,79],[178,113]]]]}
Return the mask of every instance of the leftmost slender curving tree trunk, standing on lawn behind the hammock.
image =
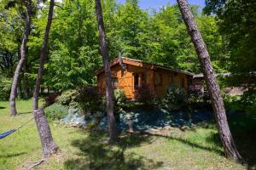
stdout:
{"type": "Polygon", "coordinates": [[[10,105],[10,115],[16,116],[17,110],[15,105],[16,91],[18,86],[18,81],[20,78],[20,71],[26,62],[26,42],[28,41],[28,36],[31,31],[31,0],[26,1],[26,29],[22,38],[20,47],[20,60],[15,70],[14,80],[12,83],[11,93],[9,95],[9,105],[10,105]]]}

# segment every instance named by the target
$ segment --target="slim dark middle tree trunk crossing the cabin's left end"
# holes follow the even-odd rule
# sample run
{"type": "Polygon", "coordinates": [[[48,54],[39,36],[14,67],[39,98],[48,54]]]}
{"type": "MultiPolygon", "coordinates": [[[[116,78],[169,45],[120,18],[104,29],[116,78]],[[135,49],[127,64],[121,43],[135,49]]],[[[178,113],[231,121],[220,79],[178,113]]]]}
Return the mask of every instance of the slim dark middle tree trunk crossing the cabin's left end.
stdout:
{"type": "Polygon", "coordinates": [[[108,57],[108,43],[104,28],[104,21],[102,16],[102,4],[101,0],[95,0],[96,3],[96,17],[98,21],[98,30],[100,33],[101,51],[103,65],[105,68],[106,77],[106,98],[107,98],[107,113],[108,113],[108,132],[109,132],[109,143],[113,144],[116,142],[118,135],[113,115],[113,88],[111,81],[111,71],[108,57]]]}

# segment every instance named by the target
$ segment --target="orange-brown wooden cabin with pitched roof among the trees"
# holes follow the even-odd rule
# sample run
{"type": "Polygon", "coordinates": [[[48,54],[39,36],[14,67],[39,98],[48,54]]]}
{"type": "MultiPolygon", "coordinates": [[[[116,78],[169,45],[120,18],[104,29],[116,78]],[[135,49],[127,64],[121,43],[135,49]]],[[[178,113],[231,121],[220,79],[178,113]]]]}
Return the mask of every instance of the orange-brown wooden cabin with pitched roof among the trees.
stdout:
{"type": "MultiPolygon", "coordinates": [[[[134,99],[138,87],[147,85],[154,94],[161,97],[169,86],[189,91],[194,74],[160,65],[153,65],[138,59],[117,58],[110,62],[113,88],[124,90],[127,99],[134,99]]],[[[97,86],[105,92],[105,74],[102,68],[96,71],[97,86]]]]}

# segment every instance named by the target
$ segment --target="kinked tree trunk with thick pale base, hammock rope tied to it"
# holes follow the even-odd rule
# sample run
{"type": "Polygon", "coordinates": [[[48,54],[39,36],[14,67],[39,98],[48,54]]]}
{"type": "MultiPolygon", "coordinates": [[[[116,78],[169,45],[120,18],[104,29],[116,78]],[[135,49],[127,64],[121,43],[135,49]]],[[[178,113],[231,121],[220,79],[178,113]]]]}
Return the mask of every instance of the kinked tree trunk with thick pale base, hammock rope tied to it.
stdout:
{"type": "Polygon", "coordinates": [[[54,0],[50,0],[48,21],[47,21],[47,26],[44,32],[44,42],[43,42],[43,47],[41,49],[41,54],[40,54],[38,77],[37,77],[37,82],[36,82],[36,85],[34,88],[34,94],[33,94],[33,113],[35,117],[35,122],[38,127],[38,133],[41,139],[44,157],[50,156],[59,150],[59,147],[57,146],[57,144],[55,144],[52,138],[52,135],[50,133],[49,124],[46,120],[46,117],[44,116],[44,109],[38,109],[38,95],[39,95],[40,84],[42,82],[42,76],[44,72],[44,60],[46,57],[47,43],[49,39],[49,30],[52,22],[54,3],[55,3],[54,0]]]}

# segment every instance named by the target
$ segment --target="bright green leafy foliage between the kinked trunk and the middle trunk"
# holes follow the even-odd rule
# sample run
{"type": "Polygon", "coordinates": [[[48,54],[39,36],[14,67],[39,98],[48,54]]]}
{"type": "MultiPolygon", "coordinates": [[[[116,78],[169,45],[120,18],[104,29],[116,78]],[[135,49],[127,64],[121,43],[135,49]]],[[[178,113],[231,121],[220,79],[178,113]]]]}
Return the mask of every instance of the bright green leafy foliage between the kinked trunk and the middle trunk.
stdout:
{"type": "Polygon", "coordinates": [[[58,91],[95,83],[102,66],[94,2],[65,0],[61,6],[52,23],[45,77],[45,85],[58,91]]]}

